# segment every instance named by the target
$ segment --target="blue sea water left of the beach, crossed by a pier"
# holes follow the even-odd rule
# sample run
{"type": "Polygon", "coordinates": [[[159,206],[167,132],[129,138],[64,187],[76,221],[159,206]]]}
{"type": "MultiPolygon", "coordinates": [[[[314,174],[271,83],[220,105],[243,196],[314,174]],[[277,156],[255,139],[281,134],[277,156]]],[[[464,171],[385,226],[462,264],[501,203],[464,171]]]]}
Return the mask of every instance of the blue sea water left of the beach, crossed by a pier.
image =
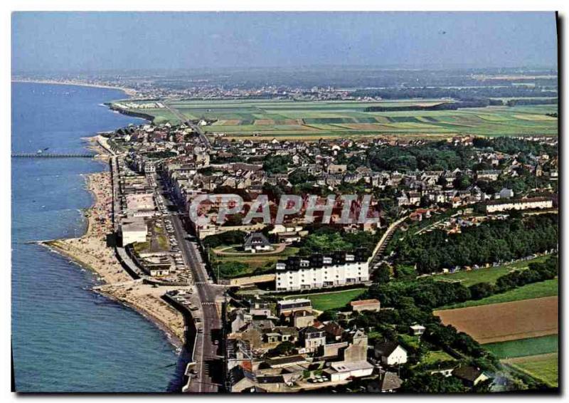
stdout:
{"type": "MultiPolygon", "coordinates": [[[[119,90],[12,84],[12,152],[86,152],[81,137],[141,120],[100,105],[119,90]]],[[[141,315],[87,288],[97,278],[26,241],[78,236],[92,159],[16,159],[12,189],[12,354],[18,392],[166,392],[179,356],[141,315]]]]}

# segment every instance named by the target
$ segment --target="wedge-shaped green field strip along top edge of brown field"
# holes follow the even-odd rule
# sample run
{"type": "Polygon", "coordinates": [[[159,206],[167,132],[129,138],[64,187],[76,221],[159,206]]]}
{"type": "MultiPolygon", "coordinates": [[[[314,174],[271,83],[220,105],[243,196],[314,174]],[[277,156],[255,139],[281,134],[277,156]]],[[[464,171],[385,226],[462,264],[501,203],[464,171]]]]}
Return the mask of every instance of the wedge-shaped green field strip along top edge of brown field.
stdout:
{"type": "Polygon", "coordinates": [[[454,309],[454,308],[467,308],[469,306],[488,305],[491,303],[503,303],[503,302],[519,301],[519,300],[529,300],[532,298],[551,297],[553,295],[558,295],[558,291],[559,291],[558,280],[557,278],[553,278],[553,280],[541,281],[539,283],[531,283],[511,291],[506,291],[506,293],[495,294],[487,298],[482,298],[481,300],[469,300],[464,303],[457,303],[454,305],[448,305],[437,309],[443,310],[443,309],[454,309]]]}

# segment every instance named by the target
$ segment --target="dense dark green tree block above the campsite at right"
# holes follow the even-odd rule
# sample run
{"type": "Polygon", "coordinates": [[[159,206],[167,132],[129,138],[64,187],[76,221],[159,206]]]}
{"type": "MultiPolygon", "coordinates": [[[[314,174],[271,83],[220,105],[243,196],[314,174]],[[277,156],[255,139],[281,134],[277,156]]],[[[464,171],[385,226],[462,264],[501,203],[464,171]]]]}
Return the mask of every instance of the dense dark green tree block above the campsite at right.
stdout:
{"type": "Polygon", "coordinates": [[[525,218],[488,221],[462,229],[410,235],[395,246],[395,263],[415,265],[419,273],[455,266],[510,261],[551,250],[558,243],[558,216],[540,214],[525,218]]]}

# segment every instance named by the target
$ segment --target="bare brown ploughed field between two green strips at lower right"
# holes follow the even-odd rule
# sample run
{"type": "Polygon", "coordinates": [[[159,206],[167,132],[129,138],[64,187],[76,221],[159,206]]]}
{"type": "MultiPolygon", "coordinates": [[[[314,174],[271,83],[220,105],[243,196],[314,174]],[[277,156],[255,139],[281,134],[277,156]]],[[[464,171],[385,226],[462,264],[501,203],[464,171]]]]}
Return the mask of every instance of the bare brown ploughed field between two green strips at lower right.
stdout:
{"type": "Polygon", "coordinates": [[[558,297],[435,310],[442,323],[482,344],[558,333],[558,297]]]}

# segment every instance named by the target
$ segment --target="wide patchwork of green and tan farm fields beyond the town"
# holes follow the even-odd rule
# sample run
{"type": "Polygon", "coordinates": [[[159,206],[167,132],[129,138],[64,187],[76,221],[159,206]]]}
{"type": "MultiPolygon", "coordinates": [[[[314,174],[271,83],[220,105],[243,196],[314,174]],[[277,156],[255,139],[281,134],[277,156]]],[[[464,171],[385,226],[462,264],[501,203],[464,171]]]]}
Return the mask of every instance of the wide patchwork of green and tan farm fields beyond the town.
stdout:
{"type": "MultiPolygon", "coordinates": [[[[277,137],[319,140],[344,136],[408,135],[557,135],[557,105],[492,106],[460,110],[368,112],[366,108],[436,105],[450,100],[290,101],[290,100],[176,100],[171,108],[188,119],[215,119],[202,127],[227,137],[277,137]]],[[[156,122],[179,123],[166,109],[131,109],[154,115],[156,122]]]]}

